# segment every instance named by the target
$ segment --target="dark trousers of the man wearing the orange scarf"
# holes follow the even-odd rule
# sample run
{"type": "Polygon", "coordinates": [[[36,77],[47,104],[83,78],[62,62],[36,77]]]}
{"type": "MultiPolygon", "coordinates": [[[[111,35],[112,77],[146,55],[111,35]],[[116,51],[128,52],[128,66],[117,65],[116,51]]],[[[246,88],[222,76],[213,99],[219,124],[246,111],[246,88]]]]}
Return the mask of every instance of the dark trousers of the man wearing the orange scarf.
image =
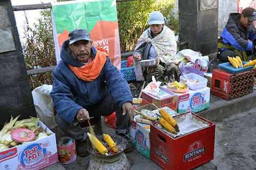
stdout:
{"type": "MultiPolygon", "coordinates": [[[[129,125],[128,115],[122,115],[122,108],[114,103],[114,99],[108,95],[98,104],[91,107],[84,107],[88,110],[90,117],[100,118],[101,116],[109,116],[116,111],[116,132],[126,133],[129,125]]],[[[85,140],[87,138],[88,127],[81,127],[81,123],[70,124],[55,116],[55,121],[58,124],[58,137],[69,136],[75,140],[85,140]]]]}

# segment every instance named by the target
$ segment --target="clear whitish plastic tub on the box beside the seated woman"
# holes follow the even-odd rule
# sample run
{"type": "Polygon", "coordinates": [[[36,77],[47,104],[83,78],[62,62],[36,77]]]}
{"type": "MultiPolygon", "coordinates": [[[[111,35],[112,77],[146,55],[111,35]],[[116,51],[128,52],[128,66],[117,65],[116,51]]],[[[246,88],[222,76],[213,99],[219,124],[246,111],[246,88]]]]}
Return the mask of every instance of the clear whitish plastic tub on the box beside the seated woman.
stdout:
{"type": "Polygon", "coordinates": [[[181,75],[180,81],[186,83],[187,87],[191,90],[200,90],[207,87],[207,79],[195,73],[181,75]]]}

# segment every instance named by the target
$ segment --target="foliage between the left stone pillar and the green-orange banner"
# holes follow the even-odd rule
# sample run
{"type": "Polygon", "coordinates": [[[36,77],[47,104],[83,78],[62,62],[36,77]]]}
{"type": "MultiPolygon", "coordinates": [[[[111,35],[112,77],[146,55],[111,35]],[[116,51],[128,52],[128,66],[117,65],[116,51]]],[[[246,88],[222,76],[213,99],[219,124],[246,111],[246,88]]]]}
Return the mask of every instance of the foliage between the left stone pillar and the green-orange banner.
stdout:
{"type": "MultiPolygon", "coordinates": [[[[26,17],[23,52],[27,70],[56,65],[50,10],[42,10],[41,17],[29,26],[26,17]]],[[[52,84],[51,73],[30,75],[31,89],[42,84],[52,84]]]]}

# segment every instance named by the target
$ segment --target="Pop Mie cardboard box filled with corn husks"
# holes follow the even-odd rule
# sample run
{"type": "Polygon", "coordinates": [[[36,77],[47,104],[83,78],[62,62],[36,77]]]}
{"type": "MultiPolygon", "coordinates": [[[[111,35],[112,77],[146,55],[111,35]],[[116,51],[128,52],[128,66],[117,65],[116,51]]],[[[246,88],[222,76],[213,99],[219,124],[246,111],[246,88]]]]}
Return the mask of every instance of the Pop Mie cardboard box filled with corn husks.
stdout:
{"type": "Polygon", "coordinates": [[[42,122],[38,122],[52,135],[0,152],[0,169],[41,169],[58,161],[55,134],[42,122]]]}

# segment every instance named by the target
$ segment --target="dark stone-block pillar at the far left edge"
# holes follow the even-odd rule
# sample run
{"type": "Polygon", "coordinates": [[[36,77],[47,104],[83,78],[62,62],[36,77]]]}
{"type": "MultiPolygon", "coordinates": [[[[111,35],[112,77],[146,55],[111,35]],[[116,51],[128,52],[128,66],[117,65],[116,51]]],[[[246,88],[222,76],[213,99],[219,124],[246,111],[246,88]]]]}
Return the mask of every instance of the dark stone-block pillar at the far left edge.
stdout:
{"type": "Polygon", "coordinates": [[[24,55],[10,0],[0,2],[0,129],[11,115],[35,116],[24,55]]]}

